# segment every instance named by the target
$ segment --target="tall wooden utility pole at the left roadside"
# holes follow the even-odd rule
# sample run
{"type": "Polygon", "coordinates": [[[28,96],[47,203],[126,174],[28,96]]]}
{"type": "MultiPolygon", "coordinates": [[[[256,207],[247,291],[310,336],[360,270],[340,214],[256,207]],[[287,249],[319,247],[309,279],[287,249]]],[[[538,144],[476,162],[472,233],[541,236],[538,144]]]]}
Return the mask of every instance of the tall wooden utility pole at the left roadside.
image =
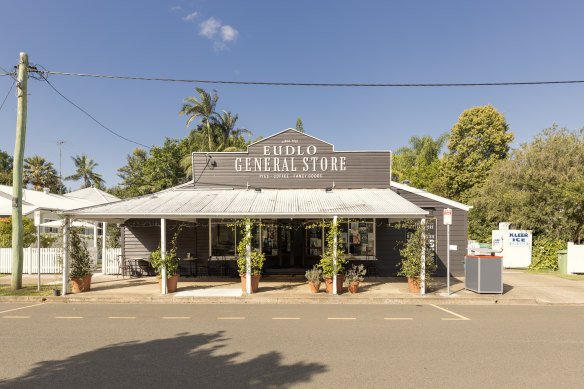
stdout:
{"type": "Polygon", "coordinates": [[[16,142],[12,173],[12,290],[22,288],[22,175],[24,164],[24,144],[26,139],[26,104],[28,93],[28,54],[20,53],[18,63],[18,112],[16,116],[16,142]]]}

